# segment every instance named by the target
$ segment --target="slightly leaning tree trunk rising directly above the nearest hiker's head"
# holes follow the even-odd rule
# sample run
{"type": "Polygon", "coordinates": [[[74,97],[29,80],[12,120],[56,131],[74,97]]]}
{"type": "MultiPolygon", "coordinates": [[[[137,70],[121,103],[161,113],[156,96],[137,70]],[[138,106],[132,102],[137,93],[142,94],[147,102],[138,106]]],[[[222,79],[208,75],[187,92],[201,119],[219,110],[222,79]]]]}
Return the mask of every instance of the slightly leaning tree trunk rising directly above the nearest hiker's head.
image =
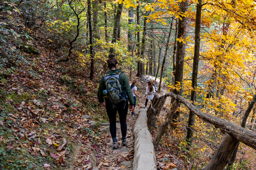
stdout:
{"type": "MultiPolygon", "coordinates": [[[[112,44],[117,42],[122,10],[123,10],[123,3],[118,4],[117,10],[116,10],[116,15],[115,15],[115,24],[114,24],[114,29],[113,29],[113,37],[112,37],[112,41],[111,41],[112,44]]],[[[109,53],[110,54],[115,54],[114,48],[110,47],[109,53]]]]}

